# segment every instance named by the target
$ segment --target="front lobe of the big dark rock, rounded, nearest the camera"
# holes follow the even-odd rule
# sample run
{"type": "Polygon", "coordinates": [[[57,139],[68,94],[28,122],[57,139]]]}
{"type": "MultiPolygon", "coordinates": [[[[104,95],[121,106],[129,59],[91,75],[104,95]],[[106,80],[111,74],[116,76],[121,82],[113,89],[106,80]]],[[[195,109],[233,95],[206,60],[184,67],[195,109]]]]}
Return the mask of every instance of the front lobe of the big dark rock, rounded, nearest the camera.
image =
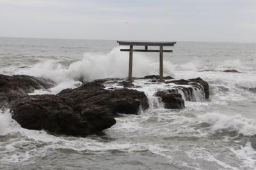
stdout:
{"type": "Polygon", "coordinates": [[[84,136],[116,123],[107,113],[81,115],[57,95],[24,95],[11,102],[12,118],[21,127],[51,134],[84,136]]]}

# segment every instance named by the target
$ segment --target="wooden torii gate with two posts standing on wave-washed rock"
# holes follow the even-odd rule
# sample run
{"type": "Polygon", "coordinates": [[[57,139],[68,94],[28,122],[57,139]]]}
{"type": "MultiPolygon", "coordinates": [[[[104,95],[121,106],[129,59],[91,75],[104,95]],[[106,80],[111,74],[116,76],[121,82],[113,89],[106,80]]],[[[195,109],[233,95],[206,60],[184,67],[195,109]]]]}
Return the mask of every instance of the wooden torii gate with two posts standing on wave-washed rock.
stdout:
{"type": "Polygon", "coordinates": [[[176,42],[123,42],[117,41],[119,45],[129,45],[130,49],[120,49],[120,51],[129,51],[129,75],[128,81],[132,81],[132,53],[136,52],[159,52],[159,81],[163,82],[163,53],[172,52],[172,50],[164,50],[164,46],[174,46],[176,42]],[[145,49],[133,49],[133,46],[145,46],[145,49]],[[148,46],[159,46],[159,50],[149,50],[148,46]]]}

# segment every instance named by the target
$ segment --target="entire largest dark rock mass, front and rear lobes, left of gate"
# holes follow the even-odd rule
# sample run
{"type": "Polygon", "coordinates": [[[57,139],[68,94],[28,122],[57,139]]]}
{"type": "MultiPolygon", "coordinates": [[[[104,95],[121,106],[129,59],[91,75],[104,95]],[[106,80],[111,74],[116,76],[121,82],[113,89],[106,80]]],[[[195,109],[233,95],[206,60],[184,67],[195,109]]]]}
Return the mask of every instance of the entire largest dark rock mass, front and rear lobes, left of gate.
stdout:
{"type": "Polygon", "coordinates": [[[58,95],[16,97],[10,104],[12,117],[24,128],[84,136],[114,125],[113,116],[117,113],[138,114],[140,106],[148,108],[143,92],[107,90],[101,83],[88,82],[76,89],[64,89],[58,95]]]}

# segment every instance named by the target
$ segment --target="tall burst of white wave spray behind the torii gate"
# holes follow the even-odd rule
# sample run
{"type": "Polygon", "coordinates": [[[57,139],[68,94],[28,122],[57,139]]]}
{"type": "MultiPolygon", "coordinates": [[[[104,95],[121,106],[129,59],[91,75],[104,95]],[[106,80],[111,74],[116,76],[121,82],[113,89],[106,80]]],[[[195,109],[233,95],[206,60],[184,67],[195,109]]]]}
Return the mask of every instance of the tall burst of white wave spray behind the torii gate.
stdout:
{"type": "MultiPolygon", "coordinates": [[[[68,68],[57,61],[46,60],[16,73],[50,78],[56,82],[69,81],[70,79],[92,81],[107,77],[127,77],[128,60],[127,54],[120,52],[120,49],[115,47],[108,54],[85,53],[81,61],[72,63],[68,68]]],[[[133,75],[136,77],[159,72],[159,63],[141,53],[136,53],[133,63],[133,75]]],[[[171,75],[171,68],[173,68],[172,63],[165,61],[164,73],[171,75]]]]}

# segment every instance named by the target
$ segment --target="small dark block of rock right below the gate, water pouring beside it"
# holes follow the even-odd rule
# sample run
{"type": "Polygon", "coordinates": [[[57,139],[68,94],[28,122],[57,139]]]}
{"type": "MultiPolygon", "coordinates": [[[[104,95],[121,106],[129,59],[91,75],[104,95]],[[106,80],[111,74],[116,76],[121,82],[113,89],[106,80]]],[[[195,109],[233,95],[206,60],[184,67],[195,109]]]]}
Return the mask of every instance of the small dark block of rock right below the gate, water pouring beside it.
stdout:
{"type": "Polygon", "coordinates": [[[171,91],[157,91],[156,97],[161,97],[166,109],[182,109],[185,107],[184,100],[179,93],[171,91]]]}

